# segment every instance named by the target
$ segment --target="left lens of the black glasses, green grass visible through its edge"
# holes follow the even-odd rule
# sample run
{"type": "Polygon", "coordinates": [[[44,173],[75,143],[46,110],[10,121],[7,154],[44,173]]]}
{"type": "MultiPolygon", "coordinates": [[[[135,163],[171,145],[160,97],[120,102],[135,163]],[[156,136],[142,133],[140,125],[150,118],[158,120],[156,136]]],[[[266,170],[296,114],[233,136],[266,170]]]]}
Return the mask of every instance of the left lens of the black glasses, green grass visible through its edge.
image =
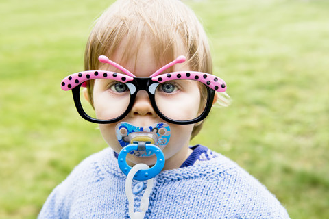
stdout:
{"type": "Polygon", "coordinates": [[[121,81],[95,79],[91,91],[80,88],[80,102],[84,112],[91,118],[112,120],[127,110],[130,90],[121,81]]]}

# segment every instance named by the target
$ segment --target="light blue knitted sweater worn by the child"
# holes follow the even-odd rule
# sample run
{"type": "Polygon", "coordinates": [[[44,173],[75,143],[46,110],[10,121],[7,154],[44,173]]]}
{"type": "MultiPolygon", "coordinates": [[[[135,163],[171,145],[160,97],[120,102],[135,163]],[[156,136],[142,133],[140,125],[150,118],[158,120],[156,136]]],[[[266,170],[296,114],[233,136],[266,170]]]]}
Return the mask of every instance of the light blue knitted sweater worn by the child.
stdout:
{"type": "MultiPolygon", "coordinates": [[[[160,172],[145,218],[289,218],[254,177],[223,155],[211,154],[192,166],[160,172]]],[[[125,179],[112,149],[104,149],[53,190],[39,218],[129,218],[125,179]]],[[[132,183],[135,211],[145,190],[140,185],[132,183]]]]}

